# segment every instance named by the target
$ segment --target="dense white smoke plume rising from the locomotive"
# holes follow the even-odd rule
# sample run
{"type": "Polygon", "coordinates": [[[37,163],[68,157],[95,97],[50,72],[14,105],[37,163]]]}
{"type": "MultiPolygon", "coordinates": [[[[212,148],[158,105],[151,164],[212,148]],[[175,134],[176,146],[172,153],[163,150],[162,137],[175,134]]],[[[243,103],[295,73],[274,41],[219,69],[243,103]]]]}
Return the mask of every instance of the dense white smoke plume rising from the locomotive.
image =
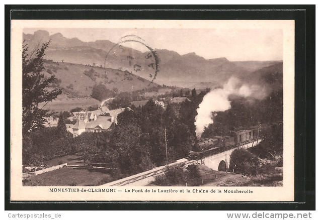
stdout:
{"type": "Polygon", "coordinates": [[[197,138],[201,137],[205,127],[213,123],[212,112],[224,112],[231,107],[228,99],[231,94],[248,97],[252,94],[252,89],[248,85],[241,85],[238,79],[231,77],[223,88],[214,89],[207,93],[197,108],[198,114],[194,123],[197,138]]]}

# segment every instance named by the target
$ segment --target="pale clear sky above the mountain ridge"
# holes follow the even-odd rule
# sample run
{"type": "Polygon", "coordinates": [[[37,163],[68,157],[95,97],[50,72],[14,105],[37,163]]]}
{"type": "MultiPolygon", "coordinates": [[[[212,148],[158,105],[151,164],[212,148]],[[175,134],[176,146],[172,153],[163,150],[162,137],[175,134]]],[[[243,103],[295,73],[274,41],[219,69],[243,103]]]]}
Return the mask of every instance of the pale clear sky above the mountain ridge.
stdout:
{"type": "MultiPolygon", "coordinates": [[[[109,40],[114,43],[126,35],[137,35],[153,49],[174,50],[180,55],[196,53],[205,59],[225,57],[229,61],[282,60],[283,36],[280,29],[24,29],[25,34],[46,30],[66,38],[90,42],[109,40]]],[[[128,46],[128,45],[125,45],[128,46]]],[[[131,45],[145,52],[146,49],[131,45]]]]}

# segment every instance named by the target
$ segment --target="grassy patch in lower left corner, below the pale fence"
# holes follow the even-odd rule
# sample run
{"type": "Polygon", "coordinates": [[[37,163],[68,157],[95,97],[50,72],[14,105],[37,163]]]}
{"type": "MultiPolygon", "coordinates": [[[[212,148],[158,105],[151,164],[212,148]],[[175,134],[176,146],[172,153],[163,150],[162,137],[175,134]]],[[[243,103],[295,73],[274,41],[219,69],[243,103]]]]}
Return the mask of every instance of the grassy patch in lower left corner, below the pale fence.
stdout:
{"type": "Polygon", "coordinates": [[[96,186],[112,181],[107,172],[65,167],[33,176],[24,181],[25,186],[96,186]]]}

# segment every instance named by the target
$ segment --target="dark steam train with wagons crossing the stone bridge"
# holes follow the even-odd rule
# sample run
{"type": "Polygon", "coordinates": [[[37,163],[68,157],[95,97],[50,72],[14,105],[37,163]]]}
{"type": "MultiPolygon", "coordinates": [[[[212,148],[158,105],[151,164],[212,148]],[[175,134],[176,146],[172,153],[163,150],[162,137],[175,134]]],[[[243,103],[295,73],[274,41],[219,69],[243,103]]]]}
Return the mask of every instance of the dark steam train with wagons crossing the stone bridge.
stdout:
{"type": "Polygon", "coordinates": [[[232,132],[230,136],[215,136],[212,138],[205,138],[204,140],[196,143],[191,151],[190,156],[197,156],[206,152],[219,153],[235,146],[250,142],[254,139],[254,133],[252,130],[242,130],[238,132],[232,132]]]}

